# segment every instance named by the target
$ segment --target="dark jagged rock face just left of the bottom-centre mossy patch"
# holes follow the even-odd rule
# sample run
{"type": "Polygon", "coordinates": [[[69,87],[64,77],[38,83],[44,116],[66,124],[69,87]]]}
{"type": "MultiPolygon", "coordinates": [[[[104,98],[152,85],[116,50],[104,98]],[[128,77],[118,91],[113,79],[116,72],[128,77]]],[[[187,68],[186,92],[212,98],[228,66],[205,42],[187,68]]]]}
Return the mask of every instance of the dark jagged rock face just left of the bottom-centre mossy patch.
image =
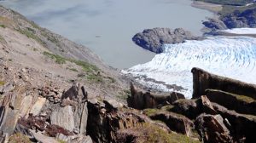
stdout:
{"type": "Polygon", "coordinates": [[[88,113],[87,134],[96,142],[116,142],[116,133],[119,129],[129,129],[141,123],[152,122],[136,110],[115,111],[102,106],[99,102],[88,102],[88,113]]]}

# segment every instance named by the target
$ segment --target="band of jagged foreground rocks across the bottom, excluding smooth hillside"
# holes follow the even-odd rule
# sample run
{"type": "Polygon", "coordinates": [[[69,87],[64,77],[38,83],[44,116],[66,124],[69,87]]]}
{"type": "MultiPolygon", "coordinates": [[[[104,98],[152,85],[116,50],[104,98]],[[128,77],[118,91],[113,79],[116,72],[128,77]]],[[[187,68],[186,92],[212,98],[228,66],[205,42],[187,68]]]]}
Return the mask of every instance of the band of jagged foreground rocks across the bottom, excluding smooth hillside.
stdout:
{"type": "MultiPolygon", "coordinates": [[[[1,76],[9,77],[2,66],[1,76]]],[[[128,106],[69,89],[36,86],[21,70],[2,83],[1,140],[9,142],[253,142],[256,85],[192,69],[193,99],[159,95],[131,83],[128,106]],[[12,84],[19,83],[19,84],[12,84]]],[[[44,80],[43,80],[44,81],[44,80]]]]}

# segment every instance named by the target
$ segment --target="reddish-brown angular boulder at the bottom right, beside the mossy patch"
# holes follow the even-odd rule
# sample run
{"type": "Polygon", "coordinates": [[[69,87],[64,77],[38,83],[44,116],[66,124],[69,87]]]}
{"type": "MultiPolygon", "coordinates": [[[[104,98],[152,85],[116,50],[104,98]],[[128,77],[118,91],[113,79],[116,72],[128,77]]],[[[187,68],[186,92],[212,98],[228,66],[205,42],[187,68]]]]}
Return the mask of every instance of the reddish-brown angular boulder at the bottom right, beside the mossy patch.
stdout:
{"type": "Polygon", "coordinates": [[[230,130],[224,125],[220,115],[205,115],[196,117],[195,126],[203,142],[233,142],[230,130]]]}

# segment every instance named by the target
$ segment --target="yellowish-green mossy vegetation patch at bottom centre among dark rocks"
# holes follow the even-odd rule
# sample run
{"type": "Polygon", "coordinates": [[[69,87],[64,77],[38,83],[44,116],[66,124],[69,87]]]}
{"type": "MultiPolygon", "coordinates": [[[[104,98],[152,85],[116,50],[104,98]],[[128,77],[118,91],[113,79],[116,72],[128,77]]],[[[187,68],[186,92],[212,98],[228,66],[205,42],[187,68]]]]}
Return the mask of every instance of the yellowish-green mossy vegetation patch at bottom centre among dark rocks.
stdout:
{"type": "Polygon", "coordinates": [[[142,126],[134,129],[140,134],[136,142],[166,142],[166,143],[199,143],[183,134],[168,133],[164,129],[151,124],[143,123],[142,126]]]}

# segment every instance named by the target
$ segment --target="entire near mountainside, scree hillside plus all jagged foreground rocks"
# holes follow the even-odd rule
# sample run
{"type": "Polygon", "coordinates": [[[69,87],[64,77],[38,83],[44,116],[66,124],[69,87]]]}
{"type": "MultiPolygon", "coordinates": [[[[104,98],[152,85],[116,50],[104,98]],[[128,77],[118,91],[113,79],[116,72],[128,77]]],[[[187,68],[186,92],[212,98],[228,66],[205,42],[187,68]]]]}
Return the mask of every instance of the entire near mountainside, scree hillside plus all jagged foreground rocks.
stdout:
{"type": "Polygon", "coordinates": [[[89,49],[0,8],[0,142],[256,140],[255,85],[194,68],[192,100],[125,90],[89,49]]]}

